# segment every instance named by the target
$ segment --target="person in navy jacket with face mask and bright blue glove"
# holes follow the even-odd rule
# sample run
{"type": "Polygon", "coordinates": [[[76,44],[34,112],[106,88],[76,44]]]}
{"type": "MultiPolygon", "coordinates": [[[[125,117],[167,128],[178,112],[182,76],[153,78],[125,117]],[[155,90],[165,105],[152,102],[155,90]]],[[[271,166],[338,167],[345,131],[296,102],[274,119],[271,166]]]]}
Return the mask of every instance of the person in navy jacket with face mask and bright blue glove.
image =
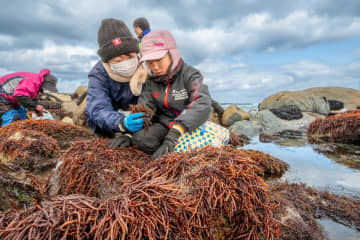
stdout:
{"type": "Polygon", "coordinates": [[[111,147],[129,146],[126,133],[139,131],[144,124],[143,113],[120,112],[137,103],[147,78],[138,64],[138,41],[123,21],[109,18],[102,20],[98,44],[101,60],[89,73],[87,123],[97,135],[113,138],[111,147]]]}

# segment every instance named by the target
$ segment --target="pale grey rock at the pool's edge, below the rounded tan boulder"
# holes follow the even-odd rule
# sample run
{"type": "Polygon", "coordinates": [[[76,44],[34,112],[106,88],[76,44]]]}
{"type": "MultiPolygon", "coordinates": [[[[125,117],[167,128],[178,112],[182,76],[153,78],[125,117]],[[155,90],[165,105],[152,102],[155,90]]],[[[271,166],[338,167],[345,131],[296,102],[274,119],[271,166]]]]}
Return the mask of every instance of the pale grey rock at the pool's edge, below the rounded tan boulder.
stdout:
{"type": "Polygon", "coordinates": [[[319,114],[304,112],[303,118],[298,120],[282,120],[275,116],[270,110],[262,110],[258,118],[266,134],[275,135],[284,131],[296,131],[306,134],[306,131],[316,118],[323,117],[319,114]]]}

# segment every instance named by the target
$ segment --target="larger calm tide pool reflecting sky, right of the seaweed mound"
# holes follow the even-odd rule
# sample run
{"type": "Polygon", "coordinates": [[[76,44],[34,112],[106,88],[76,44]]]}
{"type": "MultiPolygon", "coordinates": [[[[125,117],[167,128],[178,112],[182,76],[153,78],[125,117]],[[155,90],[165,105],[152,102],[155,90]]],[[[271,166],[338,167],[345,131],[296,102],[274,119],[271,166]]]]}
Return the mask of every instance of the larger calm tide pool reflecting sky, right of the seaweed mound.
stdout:
{"type": "Polygon", "coordinates": [[[360,197],[360,171],[339,165],[310,144],[261,143],[253,138],[245,149],[259,150],[287,162],[290,169],[281,180],[305,183],[319,190],[360,197]],[[290,145],[290,146],[286,146],[290,145]]]}

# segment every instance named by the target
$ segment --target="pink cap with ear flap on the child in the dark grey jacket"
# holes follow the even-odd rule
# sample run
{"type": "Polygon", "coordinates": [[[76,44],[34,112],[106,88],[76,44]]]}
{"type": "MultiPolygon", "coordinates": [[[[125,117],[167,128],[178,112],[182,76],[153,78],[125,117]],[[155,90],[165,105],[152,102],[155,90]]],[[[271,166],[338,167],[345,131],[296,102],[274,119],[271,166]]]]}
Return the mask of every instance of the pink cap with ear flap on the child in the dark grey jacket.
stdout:
{"type": "Polygon", "coordinates": [[[173,67],[176,67],[180,60],[180,52],[176,48],[174,37],[166,30],[152,31],[141,41],[140,62],[161,59],[168,52],[173,60],[173,67]]]}

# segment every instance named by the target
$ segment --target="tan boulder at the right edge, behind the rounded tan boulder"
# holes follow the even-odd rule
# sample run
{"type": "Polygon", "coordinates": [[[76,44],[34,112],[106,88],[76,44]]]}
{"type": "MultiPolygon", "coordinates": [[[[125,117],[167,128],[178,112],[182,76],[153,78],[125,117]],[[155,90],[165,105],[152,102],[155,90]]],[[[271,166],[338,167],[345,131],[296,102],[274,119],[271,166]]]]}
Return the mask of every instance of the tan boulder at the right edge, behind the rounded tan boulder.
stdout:
{"type": "Polygon", "coordinates": [[[344,103],[347,110],[355,110],[360,106],[360,91],[353,88],[325,87],[309,88],[304,91],[315,96],[326,97],[327,99],[337,100],[344,103]]]}

